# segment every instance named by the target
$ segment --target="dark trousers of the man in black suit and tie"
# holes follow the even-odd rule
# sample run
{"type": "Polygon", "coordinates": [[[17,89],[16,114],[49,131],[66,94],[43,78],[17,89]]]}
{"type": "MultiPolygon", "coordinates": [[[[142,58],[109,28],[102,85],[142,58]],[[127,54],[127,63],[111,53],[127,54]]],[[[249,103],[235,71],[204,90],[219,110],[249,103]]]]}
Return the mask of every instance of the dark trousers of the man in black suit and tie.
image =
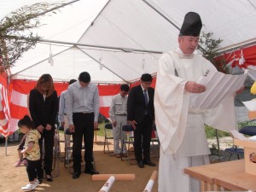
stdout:
{"type": "Polygon", "coordinates": [[[143,122],[136,125],[136,130],[134,131],[134,153],[137,162],[150,160],[152,124],[153,122],[149,116],[145,115],[143,122]]]}

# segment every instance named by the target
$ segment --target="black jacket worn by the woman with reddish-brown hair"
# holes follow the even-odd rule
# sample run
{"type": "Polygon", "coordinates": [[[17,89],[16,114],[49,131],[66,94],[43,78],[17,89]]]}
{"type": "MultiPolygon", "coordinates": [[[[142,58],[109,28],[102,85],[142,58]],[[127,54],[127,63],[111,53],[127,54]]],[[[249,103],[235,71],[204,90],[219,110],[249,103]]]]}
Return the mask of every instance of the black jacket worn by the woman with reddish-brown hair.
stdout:
{"type": "Polygon", "coordinates": [[[49,124],[54,128],[58,113],[57,92],[54,91],[51,96],[46,97],[44,102],[44,97],[38,90],[31,90],[29,95],[29,111],[36,127],[49,124]]]}

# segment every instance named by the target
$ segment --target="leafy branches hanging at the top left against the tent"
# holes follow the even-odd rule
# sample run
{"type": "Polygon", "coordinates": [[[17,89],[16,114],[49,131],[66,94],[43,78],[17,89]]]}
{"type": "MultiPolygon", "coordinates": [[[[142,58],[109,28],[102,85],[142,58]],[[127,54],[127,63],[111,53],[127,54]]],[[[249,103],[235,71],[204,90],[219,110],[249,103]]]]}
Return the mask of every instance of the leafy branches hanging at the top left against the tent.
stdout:
{"type": "Polygon", "coordinates": [[[42,26],[40,19],[47,13],[55,14],[63,5],[35,3],[11,12],[0,21],[0,73],[13,67],[24,52],[37,44],[40,37],[32,29],[42,26]]]}

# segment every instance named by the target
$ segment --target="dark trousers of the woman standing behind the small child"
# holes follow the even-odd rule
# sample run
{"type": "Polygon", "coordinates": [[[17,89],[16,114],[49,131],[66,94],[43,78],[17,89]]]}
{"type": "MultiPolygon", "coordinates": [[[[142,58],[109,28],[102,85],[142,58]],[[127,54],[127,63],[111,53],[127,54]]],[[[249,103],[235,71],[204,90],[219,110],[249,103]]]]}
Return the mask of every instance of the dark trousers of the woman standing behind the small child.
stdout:
{"type": "Polygon", "coordinates": [[[51,175],[52,162],[53,162],[53,146],[54,146],[55,128],[50,131],[44,129],[39,139],[40,153],[41,153],[41,165],[42,159],[44,159],[44,172],[47,175],[51,175]],[[43,151],[44,140],[44,151],[43,151]],[[43,156],[44,155],[44,156],[43,156]]]}

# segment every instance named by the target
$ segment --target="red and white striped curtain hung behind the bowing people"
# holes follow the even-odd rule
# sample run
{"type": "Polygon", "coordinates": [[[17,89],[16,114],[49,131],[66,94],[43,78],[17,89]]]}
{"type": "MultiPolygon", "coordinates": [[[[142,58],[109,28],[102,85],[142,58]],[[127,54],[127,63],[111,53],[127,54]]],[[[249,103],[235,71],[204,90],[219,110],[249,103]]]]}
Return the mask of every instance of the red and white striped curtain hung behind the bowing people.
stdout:
{"type": "MultiPolygon", "coordinates": [[[[0,104],[0,134],[4,137],[11,135],[18,129],[18,120],[23,118],[28,113],[27,110],[27,95],[32,90],[36,81],[15,79],[7,86],[6,75],[1,75],[0,79],[1,89],[1,104],[0,104]],[[7,90],[9,87],[9,90],[7,90]],[[8,99],[10,97],[10,99],[8,99]],[[10,101],[10,102],[8,102],[10,101]]],[[[139,82],[131,84],[135,86],[139,82]]],[[[155,79],[152,87],[154,87],[155,79]]],[[[67,83],[55,83],[55,90],[58,96],[63,90],[67,90],[67,83]]],[[[120,84],[99,84],[100,95],[100,113],[106,118],[109,118],[108,110],[112,101],[112,97],[119,93],[120,84]]]]}

